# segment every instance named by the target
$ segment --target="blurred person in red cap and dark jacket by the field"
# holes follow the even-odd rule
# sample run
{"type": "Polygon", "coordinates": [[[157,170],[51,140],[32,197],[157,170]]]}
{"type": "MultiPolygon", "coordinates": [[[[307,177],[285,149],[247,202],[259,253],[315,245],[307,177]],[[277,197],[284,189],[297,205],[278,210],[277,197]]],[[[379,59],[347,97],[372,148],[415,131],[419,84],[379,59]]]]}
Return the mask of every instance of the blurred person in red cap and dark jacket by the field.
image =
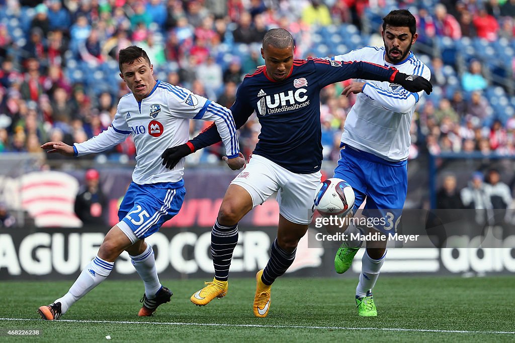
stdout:
{"type": "Polygon", "coordinates": [[[107,225],[107,198],[99,185],[97,170],[89,169],[85,174],[85,185],[81,186],[75,198],[75,214],[85,226],[107,225]]]}

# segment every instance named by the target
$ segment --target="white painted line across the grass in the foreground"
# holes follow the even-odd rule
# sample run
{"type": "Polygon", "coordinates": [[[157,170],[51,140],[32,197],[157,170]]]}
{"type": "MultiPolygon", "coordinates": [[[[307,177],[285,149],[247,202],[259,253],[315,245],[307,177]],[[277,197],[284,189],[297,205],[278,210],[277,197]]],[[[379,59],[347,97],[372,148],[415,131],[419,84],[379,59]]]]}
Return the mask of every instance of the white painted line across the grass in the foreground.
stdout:
{"type": "MultiPolygon", "coordinates": [[[[35,318],[0,318],[6,321],[41,321],[35,318]]],[[[263,325],[263,324],[222,324],[222,323],[184,323],[159,321],[124,321],[124,320],[76,320],[59,319],[69,323],[109,323],[109,324],[143,324],[143,325],[184,325],[197,327],[233,327],[233,328],[270,328],[270,329],[315,329],[315,330],[359,330],[359,331],[394,331],[394,332],[441,332],[441,333],[475,333],[475,334],[507,334],[515,335],[515,331],[469,331],[469,330],[434,330],[434,329],[404,329],[404,328],[354,328],[354,327],[318,327],[300,325],[263,325]]]]}

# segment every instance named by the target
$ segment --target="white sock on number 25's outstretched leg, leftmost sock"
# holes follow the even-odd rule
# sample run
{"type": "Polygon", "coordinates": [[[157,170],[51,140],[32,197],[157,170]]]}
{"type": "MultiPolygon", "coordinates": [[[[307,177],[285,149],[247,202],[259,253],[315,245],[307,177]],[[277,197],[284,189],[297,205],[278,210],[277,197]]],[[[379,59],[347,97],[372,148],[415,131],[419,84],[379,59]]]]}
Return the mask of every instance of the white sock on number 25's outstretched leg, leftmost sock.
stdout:
{"type": "Polygon", "coordinates": [[[61,314],[66,313],[71,305],[89,291],[95,288],[100,282],[104,281],[111,270],[114,262],[104,261],[98,255],[88,265],[82,269],[75,283],[70,287],[70,291],[54,302],[61,303],[61,314]]]}

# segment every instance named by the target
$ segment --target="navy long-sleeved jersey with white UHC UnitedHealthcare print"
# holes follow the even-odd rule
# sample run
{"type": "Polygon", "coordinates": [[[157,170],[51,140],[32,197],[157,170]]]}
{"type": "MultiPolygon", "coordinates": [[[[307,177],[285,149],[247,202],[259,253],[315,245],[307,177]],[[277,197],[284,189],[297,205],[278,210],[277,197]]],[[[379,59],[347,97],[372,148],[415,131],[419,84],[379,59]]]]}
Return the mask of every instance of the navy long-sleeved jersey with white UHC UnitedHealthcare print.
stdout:
{"type": "MultiPolygon", "coordinates": [[[[291,172],[310,174],[322,164],[320,89],[355,78],[391,82],[396,73],[394,68],[367,62],[309,58],[294,60],[288,77],[278,82],[268,78],[262,67],[245,77],[231,111],[237,128],[256,113],[261,133],[253,154],[291,172]]],[[[218,141],[215,127],[191,140],[196,150],[218,141]]]]}

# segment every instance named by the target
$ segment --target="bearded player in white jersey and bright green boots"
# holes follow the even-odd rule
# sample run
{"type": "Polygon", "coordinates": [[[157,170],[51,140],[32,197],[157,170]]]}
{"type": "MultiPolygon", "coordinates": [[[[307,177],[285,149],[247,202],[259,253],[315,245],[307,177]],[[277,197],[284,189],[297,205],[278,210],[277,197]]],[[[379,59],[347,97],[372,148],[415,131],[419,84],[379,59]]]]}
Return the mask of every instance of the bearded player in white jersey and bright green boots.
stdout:
{"type": "MultiPolygon", "coordinates": [[[[383,19],[384,48],[364,47],[336,61],[367,61],[392,66],[402,73],[429,80],[430,69],[410,51],[417,40],[416,20],[407,10],[391,11],[383,19]]],[[[410,146],[411,118],[423,92],[411,93],[398,84],[357,80],[342,94],[357,94],[341,135],[341,151],[334,177],[346,180],[354,189],[354,210],[365,200],[363,215],[384,218],[386,225],[376,227],[383,234],[397,231],[407,191],[407,157],[410,146]]],[[[367,233],[351,222],[347,234],[367,233]]],[[[350,236],[347,236],[350,237],[350,236]]],[[[340,246],[334,265],[338,273],[351,266],[362,242],[348,240],[340,246]]],[[[367,243],[362,259],[362,273],[356,288],[360,316],[376,316],[372,288],[386,255],[386,241],[367,243]]]]}

